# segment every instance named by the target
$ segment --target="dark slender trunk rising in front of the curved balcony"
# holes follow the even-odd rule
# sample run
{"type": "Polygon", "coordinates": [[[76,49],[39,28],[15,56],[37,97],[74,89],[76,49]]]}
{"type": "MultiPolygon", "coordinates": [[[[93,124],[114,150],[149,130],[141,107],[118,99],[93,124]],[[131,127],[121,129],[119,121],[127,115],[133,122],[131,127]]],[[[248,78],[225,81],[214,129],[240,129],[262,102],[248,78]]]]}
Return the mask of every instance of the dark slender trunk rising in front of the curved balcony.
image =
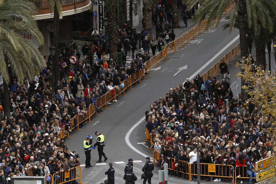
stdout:
{"type": "Polygon", "coordinates": [[[53,30],[53,45],[56,47],[56,52],[54,56],[54,77],[55,77],[55,83],[57,81],[60,81],[60,68],[59,68],[59,12],[56,8],[56,5],[54,7],[54,30],[53,30]]]}

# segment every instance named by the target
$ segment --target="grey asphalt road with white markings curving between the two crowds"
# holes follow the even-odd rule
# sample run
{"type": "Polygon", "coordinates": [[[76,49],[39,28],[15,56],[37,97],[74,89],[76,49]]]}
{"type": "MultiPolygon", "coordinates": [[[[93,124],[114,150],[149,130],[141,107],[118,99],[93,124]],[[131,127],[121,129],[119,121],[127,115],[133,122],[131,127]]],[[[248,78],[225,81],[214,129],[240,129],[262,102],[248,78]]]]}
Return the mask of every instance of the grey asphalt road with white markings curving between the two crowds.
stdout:
{"type": "MultiPolygon", "coordinates": [[[[145,140],[145,122],[143,121],[145,111],[149,109],[151,103],[159,97],[165,96],[169,88],[178,86],[186,78],[192,80],[195,75],[201,75],[239,43],[238,30],[235,29],[230,35],[227,30],[222,30],[223,23],[220,23],[216,30],[212,28],[209,33],[203,33],[197,38],[197,41],[188,45],[186,49],[178,50],[178,53],[175,54],[169,54],[171,58],[166,59],[169,62],[159,63],[161,68],[147,75],[148,79],[143,79],[143,84],[136,84],[133,86],[135,90],[126,92],[128,96],[120,96],[118,102],[108,105],[110,109],[104,109],[104,112],[100,113],[101,116],[93,118],[93,122],[86,124],[83,130],[70,134],[73,138],[68,138],[65,142],[71,151],[80,154],[82,164],[85,163],[83,140],[86,136],[93,135],[93,144],[96,141],[95,131],[99,131],[105,136],[104,152],[108,157],[105,162],[106,165],[96,165],[98,151],[92,150],[91,164],[94,167],[90,169],[82,167],[82,183],[99,184],[103,182],[107,178],[104,172],[108,169],[109,162],[112,162],[115,168],[115,183],[124,183],[122,178],[128,158],[136,161],[133,169],[138,178],[136,184],[142,183],[140,177],[145,157],[152,157],[151,150],[146,148],[150,144],[148,142],[142,144],[145,140]],[[185,65],[187,65],[187,69],[178,72],[178,68],[185,65]]],[[[220,76],[218,77],[220,78],[220,76]]],[[[237,77],[233,74],[231,78],[235,80],[237,77]]],[[[158,169],[155,167],[152,183],[158,183],[158,169]]],[[[170,177],[168,183],[180,182],[187,183],[188,181],[183,178],[170,177]]]]}

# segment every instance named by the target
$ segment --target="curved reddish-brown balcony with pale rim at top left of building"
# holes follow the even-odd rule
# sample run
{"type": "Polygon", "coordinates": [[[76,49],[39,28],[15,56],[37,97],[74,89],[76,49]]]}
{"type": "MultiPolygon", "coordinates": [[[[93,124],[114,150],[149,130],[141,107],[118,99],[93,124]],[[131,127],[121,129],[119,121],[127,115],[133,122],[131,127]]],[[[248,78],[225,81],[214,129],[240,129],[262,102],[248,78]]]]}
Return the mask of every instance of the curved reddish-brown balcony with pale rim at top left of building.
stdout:
{"type": "MultiPolygon", "coordinates": [[[[54,6],[54,0],[53,6],[54,6]]],[[[90,0],[75,0],[76,10],[74,9],[74,0],[62,0],[62,16],[73,15],[77,13],[84,12],[89,10],[91,6],[90,0]]],[[[54,13],[50,13],[48,3],[45,0],[42,0],[41,12],[37,12],[34,15],[36,20],[49,19],[54,17],[54,13]]],[[[62,19],[62,16],[59,18],[62,19]]]]}

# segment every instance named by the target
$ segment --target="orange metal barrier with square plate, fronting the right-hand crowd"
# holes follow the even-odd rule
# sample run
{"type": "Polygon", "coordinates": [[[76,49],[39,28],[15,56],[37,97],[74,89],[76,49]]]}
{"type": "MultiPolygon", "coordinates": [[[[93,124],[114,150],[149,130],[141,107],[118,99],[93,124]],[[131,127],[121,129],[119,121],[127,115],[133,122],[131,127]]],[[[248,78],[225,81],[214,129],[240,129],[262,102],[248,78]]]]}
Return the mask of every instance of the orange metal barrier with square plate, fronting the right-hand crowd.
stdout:
{"type": "MultiPolygon", "coordinates": [[[[197,175],[197,164],[192,163],[190,166],[190,175],[197,175]]],[[[235,181],[235,171],[232,165],[221,165],[212,163],[200,163],[200,175],[212,176],[217,178],[232,178],[235,181]],[[231,171],[231,168],[233,169],[231,171]],[[231,171],[231,172],[230,172],[231,171]]]]}

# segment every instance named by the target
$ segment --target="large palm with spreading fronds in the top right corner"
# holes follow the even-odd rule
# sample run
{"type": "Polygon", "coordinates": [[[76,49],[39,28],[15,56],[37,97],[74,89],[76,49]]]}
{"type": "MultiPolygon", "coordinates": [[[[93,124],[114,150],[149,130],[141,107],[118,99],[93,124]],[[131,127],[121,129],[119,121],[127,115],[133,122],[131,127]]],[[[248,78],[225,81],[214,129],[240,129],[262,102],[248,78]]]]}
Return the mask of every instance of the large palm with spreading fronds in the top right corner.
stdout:
{"type": "MultiPolygon", "coordinates": [[[[198,3],[199,0],[185,0],[190,10],[198,3]]],[[[232,0],[203,0],[201,1],[200,7],[193,17],[196,23],[203,21],[206,18],[205,26],[208,30],[211,23],[215,19],[215,26],[218,26],[220,18],[224,10],[233,3],[232,0]]],[[[246,25],[249,28],[253,28],[257,33],[257,27],[255,27],[257,20],[260,20],[260,24],[265,27],[267,26],[268,31],[272,31],[270,15],[276,15],[276,2],[274,0],[239,0],[235,1],[235,6],[229,16],[230,26],[229,31],[232,32],[235,21],[238,20],[240,30],[240,48],[241,56],[246,56],[247,45],[246,45],[246,25]],[[258,12],[258,13],[257,13],[258,12]],[[246,17],[247,22],[246,22],[246,17]]]]}

